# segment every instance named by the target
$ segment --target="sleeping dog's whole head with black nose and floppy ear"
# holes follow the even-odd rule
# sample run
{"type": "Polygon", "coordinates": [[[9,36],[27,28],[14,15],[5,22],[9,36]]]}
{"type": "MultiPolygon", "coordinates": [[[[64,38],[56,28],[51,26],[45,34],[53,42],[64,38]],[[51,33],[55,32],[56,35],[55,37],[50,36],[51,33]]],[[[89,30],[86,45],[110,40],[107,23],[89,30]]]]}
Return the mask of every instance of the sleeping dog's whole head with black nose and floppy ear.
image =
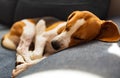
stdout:
{"type": "Polygon", "coordinates": [[[68,17],[65,28],[58,30],[51,44],[55,50],[68,48],[92,39],[115,42],[120,40],[117,25],[112,21],[100,20],[88,11],[75,11],[68,17]]]}

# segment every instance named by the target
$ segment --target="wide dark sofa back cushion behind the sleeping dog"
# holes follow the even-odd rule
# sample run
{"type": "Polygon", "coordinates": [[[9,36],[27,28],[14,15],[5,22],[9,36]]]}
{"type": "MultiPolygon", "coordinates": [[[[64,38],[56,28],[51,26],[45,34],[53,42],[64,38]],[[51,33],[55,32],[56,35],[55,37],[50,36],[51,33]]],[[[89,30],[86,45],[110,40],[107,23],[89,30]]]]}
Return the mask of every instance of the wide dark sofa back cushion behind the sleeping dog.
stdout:
{"type": "Polygon", "coordinates": [[[109,0],[19,0],[15,21],[42,16],[55,16],[66,20],[74,10],[89,10],[104,18],[108,7],[109,0]]]}

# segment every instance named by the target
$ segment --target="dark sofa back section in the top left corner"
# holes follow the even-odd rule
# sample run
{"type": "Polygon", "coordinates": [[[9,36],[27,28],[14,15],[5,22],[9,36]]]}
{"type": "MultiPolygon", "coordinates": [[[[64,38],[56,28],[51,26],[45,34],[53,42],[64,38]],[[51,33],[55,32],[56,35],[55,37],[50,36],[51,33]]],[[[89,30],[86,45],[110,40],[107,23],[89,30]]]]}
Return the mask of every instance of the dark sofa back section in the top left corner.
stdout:
{"type": "Polygon", "coordinates": [[[17,0],[0,0],[0,23],[11,24],[17,0]]]}

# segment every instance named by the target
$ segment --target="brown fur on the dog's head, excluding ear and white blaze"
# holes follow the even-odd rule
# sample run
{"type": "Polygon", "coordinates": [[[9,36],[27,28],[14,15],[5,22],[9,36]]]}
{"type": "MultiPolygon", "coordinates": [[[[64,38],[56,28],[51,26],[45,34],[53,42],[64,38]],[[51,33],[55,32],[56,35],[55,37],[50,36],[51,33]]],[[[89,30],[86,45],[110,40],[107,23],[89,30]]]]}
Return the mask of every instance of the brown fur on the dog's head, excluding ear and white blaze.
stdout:
{"type": "MultiPolygon", "coordinates": [[[[67,29],[71,29],[71,26],[79,19],[85,19],[86,23],[77,29],[71,36],[71,42],[69,46],[74,46],[83,42],[87,42],[95,38],[99,34],[101,23],[103,22],[94,14],[88,11],[75,11],[68,17],[67,29]],[[71,17],[72,16],[72,17],[71,17]],[[97,29],[97,30],[96,30],[97,29]]],[[[67,30],[66,30],[67,31],[67,30]]]]}

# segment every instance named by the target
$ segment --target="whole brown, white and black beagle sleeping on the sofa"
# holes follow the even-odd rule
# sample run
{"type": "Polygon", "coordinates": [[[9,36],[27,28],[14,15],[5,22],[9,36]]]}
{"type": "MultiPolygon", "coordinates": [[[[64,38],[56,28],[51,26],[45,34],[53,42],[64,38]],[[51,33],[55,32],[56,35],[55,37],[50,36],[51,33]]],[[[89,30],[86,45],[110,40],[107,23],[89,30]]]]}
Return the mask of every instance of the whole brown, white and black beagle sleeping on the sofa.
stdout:
{"type": "Polygon", "coordinates": [[[15,77],[51,54],[93,39],[119,41],[118,26],[89,11],[74,11],[67,21],[53,17],[18,21],[4,35],[2,45],[17,51],[17,65],[12,73],[15,77]]]}

